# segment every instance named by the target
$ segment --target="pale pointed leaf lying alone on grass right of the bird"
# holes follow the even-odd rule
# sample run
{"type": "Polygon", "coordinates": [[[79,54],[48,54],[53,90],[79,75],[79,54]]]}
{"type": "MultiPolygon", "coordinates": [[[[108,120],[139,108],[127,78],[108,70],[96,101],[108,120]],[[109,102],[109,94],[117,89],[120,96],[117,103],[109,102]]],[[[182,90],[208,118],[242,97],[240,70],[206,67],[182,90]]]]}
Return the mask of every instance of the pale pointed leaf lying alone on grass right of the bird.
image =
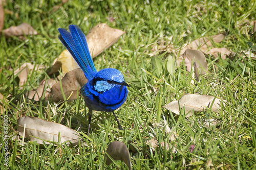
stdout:
{"type": "MultiPolygon", "coordinates": [[[[207,108],[210,108],[211,105],[211,110],[219,113],[219,110],[221,109],[221,102],[226,101],[217,99],[214,96],[210,95],[185,94],[180,100],[170,102],[167,105],[163,106],[163,108],[168,109],[175,114],[180,114],[180,110],[183,111],[184,109],[186,117],[189,117],[193,115],[193,113],[191,112],[192,110],[194,110],[194,112],[201,112],[207,108]],[[214,103],[212,104],[212,102],[214,103]]],[[[224,103],[223,105],[225,106],[224,103]]]]}

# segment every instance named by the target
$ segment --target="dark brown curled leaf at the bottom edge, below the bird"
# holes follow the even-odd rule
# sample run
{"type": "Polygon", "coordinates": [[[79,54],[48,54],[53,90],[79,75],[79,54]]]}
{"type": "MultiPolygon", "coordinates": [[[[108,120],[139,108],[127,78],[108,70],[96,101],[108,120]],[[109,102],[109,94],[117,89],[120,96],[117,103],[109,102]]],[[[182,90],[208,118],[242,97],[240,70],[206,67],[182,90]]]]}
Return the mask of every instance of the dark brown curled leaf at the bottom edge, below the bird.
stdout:
{"type": "MultiPolygon", "coordinates": [[[[113,141],[109,144],[108,149],[106,149],[106,153],[108,153],[114,160],[123,161],[129,169],[131,169],[132,163],[130,158],[130,153],[126,145],[119,141],[113,141]]],[[[106,165],[112,163],[110,157],[105,154],[105,162],[106,165]]]]}

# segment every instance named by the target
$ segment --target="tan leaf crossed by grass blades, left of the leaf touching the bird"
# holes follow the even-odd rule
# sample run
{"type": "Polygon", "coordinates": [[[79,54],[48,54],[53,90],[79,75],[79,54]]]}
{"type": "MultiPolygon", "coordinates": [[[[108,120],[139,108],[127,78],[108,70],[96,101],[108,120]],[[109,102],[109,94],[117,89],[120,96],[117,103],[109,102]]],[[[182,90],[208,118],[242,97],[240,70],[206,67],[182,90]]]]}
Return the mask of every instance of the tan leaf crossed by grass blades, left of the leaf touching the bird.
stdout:
{"type": "Polygon", "coordinates": [[[39,101],[42,94],[44,94],[44,92],[45,92],[45,96],[48,96],[48,94],[50,93],[50,89],[56,82],[57,81],[55,79],[48,79],[48,80],[44,81],[41,85],[39,85],[39,87],[37,89],[30,90],[30,91],[26,92],[25,96],[28,99],[34,98],[34,101],[39,101]]]}

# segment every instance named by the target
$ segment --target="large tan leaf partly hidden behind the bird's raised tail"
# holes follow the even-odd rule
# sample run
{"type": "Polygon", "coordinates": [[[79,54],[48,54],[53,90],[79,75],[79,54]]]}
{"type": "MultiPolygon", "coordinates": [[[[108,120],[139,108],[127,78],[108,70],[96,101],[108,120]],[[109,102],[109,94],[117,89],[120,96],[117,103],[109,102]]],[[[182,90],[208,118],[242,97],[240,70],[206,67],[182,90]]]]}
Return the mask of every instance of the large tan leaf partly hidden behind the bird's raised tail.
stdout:
{"type": "MultiPolygon", "coordinates": [[[[125,32],[122,30],[110,28],[108,25],[106,25],[106,23],[99,23],[96,25],[86,36],[92,58],[102,53],[104,49],[107,49],[113,45],[124,33],[125,32]]],[[[60,67],[62,68],[63,73],[79,68],[67,50],[60,54],[56,62],[54,62],[53,67],[54,68],[52,68],[50,71],[51,74],[58,72],[60,67]],[[55,66],[55,64],[57,66],[55,66]]]]}

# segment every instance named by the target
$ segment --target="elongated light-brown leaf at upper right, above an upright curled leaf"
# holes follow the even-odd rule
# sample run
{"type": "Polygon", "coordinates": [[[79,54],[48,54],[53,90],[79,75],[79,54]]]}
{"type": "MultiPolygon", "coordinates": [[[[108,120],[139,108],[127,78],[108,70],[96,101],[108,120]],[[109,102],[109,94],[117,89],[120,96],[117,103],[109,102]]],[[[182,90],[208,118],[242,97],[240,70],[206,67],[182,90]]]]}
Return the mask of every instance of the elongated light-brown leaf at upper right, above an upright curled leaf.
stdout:
{"type": "Polygon", "coordinates": [[[182,48],[182,50],[180,51],[180,55],[182,55],[187,49],[200,50],[206,53],[208,50],[208,46],[212,46],[211,40],[216,43],[220,43],[223,39],[224,34],[217,34],[211,37],[201,37],[182,48]]]}

